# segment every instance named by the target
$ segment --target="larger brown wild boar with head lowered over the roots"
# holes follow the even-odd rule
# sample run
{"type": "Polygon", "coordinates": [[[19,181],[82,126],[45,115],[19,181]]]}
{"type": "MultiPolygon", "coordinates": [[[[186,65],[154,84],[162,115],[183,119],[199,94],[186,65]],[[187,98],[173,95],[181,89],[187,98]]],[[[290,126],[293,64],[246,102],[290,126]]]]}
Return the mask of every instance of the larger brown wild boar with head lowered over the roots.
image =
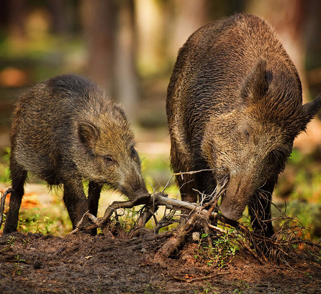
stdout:
{"type": "Polygon", "coordinates": [[[263,20],[246,14],[198,29],[180,49],[166,111],[175,173],[184,200],[211,194],[229,177],[220,211],[238,220],[248,206],[255,230],[272,235],[270,199],[294,138],[321,108],[302,105],[293,62],[263,20]]]}

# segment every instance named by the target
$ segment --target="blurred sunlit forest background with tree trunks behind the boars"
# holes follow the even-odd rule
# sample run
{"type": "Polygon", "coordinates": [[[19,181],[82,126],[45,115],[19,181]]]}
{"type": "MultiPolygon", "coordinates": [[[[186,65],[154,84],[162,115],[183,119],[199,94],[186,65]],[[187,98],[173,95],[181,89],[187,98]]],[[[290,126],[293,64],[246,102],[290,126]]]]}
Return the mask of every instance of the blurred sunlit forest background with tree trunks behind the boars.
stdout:
{"type": "MultiPolygon", "coordinates": [[[[14,103],[35,83],[67,72],[91,77],[124,106],[144,175],[153,186],[166,183],[165,100],[178,50],[202,25],[236,12],[257,14],[272,25],[299,70],[304,101],[316,98],[320,0],[0,0],[0,188],[9,185],[14,103]]],[[[293,214],[304,223],[321,219],[320,120],[296,140],[275,195],[294,203],[293,214]]]]}

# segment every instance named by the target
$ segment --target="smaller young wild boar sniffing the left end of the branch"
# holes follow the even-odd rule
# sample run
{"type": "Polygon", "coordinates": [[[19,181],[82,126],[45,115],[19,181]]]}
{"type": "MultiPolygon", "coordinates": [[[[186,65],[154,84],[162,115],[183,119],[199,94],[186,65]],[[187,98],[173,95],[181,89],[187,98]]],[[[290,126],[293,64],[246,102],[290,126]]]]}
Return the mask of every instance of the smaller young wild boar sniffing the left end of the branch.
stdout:
{"type": "Polygon", "coordinates": [[[150,197],[124,111],[85,77],[57,76],[22,96],[13,114],[10,142],[13,192],[4,234],[17,228],[27,172],[49,185],[63,185],[73,228],[87,210],[97,215],[104,184],[136,204],[150,197]],[[89,181],[88,199],[83,180],[89,181]]]}

